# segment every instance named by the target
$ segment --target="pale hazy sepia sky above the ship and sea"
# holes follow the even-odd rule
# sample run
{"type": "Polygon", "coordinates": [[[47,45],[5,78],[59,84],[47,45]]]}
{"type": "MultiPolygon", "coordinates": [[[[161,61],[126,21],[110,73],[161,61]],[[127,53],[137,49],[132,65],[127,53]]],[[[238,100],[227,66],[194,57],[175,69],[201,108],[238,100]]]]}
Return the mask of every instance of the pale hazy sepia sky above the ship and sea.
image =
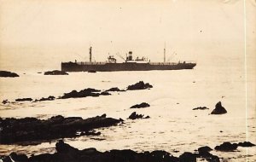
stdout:
{"type": "MultiPolygon", "coordinates": [[[[0,67],[60,68],[61,61],[88,60],[90,45],[96,61],[129,50],[163,61],[165,42],[167,60],[242,60],[243,5],[243,0],[0,0],[0,67]]],[[[246,0],[246,14],[252,60],[255,0],[246,0]]]]}

